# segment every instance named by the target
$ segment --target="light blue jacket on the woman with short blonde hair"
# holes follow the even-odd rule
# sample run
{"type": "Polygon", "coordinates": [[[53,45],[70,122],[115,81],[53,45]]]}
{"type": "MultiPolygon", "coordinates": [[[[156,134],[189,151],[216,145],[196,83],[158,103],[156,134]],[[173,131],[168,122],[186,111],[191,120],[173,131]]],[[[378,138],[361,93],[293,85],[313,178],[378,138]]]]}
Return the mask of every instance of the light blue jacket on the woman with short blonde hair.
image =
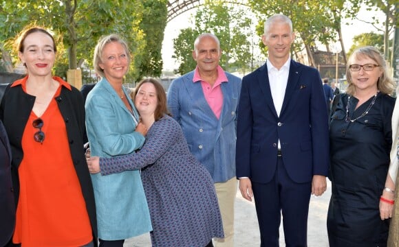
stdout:
{"type": "MultiPolygon", "coordinates": [[[[125,92],[125,97],[128,95],[125,92]]],[[[136,108],[127,97],[133,115],[105,78],[87,95],[86,128],[92,156],[111,157],[129,154],[144,143],[136,129],[136,108]]],[[[104,240],[127,239],[151,231],[151,220],[140,171],[101,176],[92,174],[96,198],[98,237],[104,240]]]]}

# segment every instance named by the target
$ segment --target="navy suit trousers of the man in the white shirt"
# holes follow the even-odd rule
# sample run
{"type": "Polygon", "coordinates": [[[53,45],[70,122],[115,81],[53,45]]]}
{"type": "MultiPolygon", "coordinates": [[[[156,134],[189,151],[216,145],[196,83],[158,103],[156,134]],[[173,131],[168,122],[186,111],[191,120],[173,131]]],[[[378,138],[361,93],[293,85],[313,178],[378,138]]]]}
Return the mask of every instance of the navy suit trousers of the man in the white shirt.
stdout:
{"type": "Polygon", "coordinates": [[[285,246],[307,246],[307,227],[312,183],[294,183],[277,158],[270,183],[252,183],[261,233],[261,246],[279,246],[281,213],[285,246]]]}

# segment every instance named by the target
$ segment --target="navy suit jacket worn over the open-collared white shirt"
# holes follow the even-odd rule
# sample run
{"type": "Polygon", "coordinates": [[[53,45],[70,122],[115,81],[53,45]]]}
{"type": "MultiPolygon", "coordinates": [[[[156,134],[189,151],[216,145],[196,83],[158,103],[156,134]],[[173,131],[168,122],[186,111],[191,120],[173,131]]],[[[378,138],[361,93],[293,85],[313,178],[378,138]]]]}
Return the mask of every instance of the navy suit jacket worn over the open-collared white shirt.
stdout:
{"type": "Polygon", "coordinates": [[[237,119],[237,178],[268,183],[277,165],[278,141],[288,176],[308,183],[327,176],[329,134],[321,77],[291,60],[280,116],[274,108],[266,64],[242,80],[237,119]]]}

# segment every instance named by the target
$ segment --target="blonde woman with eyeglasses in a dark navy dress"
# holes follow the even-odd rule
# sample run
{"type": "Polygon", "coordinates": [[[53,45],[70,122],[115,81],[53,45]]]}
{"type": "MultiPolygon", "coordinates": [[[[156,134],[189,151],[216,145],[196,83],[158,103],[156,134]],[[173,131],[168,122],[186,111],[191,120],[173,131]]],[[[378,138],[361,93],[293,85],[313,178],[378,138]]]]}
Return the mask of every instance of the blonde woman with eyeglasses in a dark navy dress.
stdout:
{"type": "Polygon", "coordinates": [[[374,47],[347,62],[347,87],[330,122],[330,247],[387,246],[397,167],[389,165],[395,89],[374,47]]]}

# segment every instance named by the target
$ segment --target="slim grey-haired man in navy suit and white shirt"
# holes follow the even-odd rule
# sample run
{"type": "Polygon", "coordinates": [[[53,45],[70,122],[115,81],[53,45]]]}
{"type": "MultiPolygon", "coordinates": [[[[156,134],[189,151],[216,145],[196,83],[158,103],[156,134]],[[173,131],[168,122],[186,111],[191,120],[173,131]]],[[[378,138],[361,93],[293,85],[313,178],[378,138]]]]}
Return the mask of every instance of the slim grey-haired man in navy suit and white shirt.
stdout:
{"type": "Polygon", "coordinates": [[[290,59],[292,22],[283,14],[265,23],[266,64],[242,80],[236,168],[241,195],[255,207],[261,246],[279,246],[283,214],[286,246],[307,246],[311,193],[327,188],[327,107],[319,72],[290,59]]]}

